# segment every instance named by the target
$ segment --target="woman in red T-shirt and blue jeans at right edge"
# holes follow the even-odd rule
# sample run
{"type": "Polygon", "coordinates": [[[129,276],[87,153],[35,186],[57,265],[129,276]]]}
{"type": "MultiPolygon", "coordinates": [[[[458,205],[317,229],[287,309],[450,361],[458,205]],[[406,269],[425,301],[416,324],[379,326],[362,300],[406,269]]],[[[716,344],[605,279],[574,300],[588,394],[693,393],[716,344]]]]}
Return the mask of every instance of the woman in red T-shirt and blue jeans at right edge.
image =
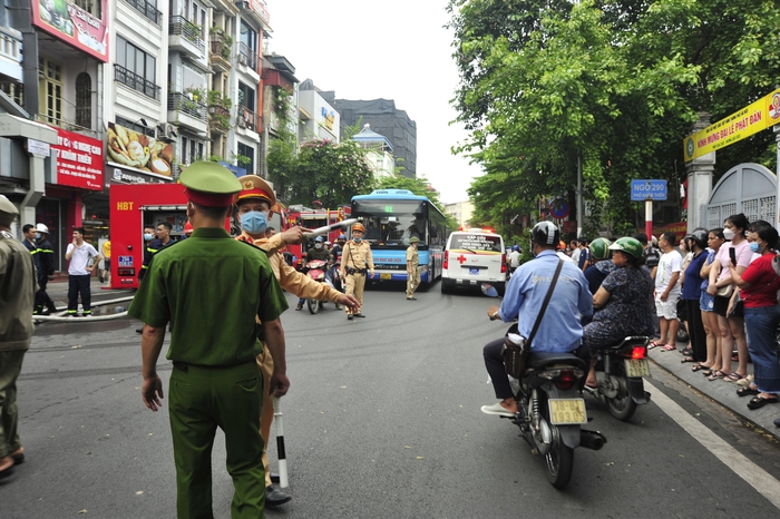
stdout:
{"type": "Polygon", "coordinates": [[[732,278],[740,287],[744,304],[744,321],[750,330],[750,358],[753,361],[755,381],[737,391],[740,396],[755,395],[749,403],[749,409],[759,409],[768,403],[778,403],[780,393],[780,364],[774,346],[776,331],[780,323],[780,306],[778,306],[778,290],[780,277],[774,271],[777,261],[774,247],[778,232],[770,224],[759,225],[751,236],[752,252],[761,256],[744,271],[742,275],[733,265],[732,278]]]}

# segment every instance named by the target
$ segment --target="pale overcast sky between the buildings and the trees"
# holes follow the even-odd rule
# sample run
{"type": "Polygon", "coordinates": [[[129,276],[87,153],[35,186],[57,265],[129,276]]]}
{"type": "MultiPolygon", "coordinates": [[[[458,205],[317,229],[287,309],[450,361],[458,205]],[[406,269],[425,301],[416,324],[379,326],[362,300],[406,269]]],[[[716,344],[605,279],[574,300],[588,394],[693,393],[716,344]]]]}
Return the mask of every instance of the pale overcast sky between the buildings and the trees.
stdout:
{"type": "Polygon", "coordinates": [[[266,0],[270,50],[339,99],[392,99],[417,123],[417,175],[445,203],[468,199],[480,168],[450,147],[466,133],[449,126],[458,82],[447,0],[266,0]]]}

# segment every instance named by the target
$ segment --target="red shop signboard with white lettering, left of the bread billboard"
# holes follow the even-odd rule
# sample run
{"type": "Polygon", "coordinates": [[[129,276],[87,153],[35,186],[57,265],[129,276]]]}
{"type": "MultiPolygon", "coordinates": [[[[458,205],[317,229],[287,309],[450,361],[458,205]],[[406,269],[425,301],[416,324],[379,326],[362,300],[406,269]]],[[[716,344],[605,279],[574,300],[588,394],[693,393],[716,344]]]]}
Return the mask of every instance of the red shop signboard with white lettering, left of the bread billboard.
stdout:
{"type": "Polygon", "coordinates": [[[103,190],[103,140],[61,128],[57,130],[57,184],[81,189],[103,190]]]}

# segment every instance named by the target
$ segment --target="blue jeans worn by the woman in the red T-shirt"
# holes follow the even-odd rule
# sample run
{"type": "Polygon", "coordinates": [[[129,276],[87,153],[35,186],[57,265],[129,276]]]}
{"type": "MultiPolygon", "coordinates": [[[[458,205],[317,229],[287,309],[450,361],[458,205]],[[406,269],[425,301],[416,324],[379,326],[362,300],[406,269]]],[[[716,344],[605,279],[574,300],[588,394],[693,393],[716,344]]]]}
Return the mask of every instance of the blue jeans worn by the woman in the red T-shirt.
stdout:
{"type": "Polygon", "coordinates": [[[780,323],[780,306],[744,309],[744,324],[750,332],[748,351],[753,361],[755,385],[764,393],[780,393],[780,364],[774,333],[780,323]]]}

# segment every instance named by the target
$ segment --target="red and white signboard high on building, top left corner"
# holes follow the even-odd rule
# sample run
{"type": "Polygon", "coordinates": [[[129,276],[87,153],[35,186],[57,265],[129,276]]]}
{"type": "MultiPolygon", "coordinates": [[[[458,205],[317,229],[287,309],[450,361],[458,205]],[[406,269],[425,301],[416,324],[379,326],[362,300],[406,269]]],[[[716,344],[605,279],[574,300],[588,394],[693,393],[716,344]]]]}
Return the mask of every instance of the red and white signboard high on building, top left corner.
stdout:
{"type": "Polygon", "coordinates": [[[67,0],[32,0],[32,25],[87,52],[96,59],[108,62],[108,0],[96,0],[103,19],[67,0]]]}

